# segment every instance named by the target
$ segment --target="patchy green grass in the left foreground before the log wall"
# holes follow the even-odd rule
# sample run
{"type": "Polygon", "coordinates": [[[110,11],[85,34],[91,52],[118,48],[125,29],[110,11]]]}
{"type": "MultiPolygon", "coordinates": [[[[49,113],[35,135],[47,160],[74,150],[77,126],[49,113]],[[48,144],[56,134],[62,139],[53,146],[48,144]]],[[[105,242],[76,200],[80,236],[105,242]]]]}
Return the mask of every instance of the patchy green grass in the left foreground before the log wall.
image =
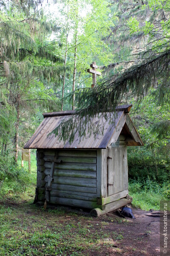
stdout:
{"type": "Polygon", "coordinates": [[[62,208],[44,211],[30,203],[0,206],[1,256],[88,255],[112,248],[117,239],[123,239],[119,232],[106,231],[105,222],[101,226],[99,219],[62,208]]]}

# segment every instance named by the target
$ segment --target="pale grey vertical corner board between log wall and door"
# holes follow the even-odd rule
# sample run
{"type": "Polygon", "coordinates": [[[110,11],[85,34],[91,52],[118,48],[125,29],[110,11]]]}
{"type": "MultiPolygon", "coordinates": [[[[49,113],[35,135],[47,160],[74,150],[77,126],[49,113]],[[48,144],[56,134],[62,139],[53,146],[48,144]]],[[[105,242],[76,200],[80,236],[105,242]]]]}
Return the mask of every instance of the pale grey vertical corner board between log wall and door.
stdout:
{"type": "Polygon", "coordinates": [[[97,150],[97,197],[106,197],[107,193],[107,149],[97,150]]]}

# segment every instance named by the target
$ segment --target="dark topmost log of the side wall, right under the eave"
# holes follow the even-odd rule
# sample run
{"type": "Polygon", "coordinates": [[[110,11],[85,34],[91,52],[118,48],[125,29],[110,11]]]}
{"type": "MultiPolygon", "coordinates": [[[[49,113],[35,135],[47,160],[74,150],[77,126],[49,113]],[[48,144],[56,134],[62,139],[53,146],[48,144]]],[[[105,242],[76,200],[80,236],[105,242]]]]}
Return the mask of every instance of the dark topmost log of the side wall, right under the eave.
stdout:
{"type": "MultiPolygon", "coordinates": [[[[56,149],[45,149],[43,154],[45,156],[54,156],[56,149]]],[[[96,157],[96,150],[58,150],[58,156],[62,157],[96,157]]]]}

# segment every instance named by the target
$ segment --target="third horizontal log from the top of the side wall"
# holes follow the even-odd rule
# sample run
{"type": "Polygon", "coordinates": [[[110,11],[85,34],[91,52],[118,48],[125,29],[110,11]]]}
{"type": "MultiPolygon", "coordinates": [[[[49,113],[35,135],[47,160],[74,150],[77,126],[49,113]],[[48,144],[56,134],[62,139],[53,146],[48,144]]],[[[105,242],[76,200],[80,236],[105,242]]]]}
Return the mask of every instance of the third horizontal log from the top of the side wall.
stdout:
{"type": "MultiPolygon", "coordinates": [[[[45,168],[51,168],[50,162],[45,162],[45,168]]],[[[56,163],[55,169],[75,171],[96,171],[95,163],[56,163]]]]}

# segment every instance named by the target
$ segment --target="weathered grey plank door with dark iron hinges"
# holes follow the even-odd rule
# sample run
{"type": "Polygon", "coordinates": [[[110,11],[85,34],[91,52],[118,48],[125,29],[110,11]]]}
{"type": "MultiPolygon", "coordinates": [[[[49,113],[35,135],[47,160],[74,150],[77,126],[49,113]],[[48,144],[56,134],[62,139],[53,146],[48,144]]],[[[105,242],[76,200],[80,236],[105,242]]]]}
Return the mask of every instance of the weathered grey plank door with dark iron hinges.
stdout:
{"type": "Polygon", "coordinates": [[[108,196],[128,189],[127,148],[108,148],[108,196]]]}

